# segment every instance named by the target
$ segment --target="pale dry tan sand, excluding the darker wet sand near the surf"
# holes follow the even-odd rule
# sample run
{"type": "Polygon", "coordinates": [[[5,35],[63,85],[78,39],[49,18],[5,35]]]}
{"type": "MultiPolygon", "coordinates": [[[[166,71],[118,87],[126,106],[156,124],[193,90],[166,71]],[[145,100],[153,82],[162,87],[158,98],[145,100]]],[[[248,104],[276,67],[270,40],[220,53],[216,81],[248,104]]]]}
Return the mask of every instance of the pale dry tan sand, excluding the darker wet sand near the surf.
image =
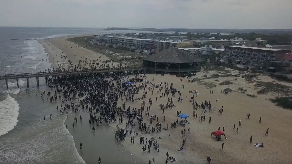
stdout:
{"type": "MultiPolygon", "coordinates": [[[[78,63],[81,60],[82,56],[89,56],[89,59],[97,59],[98,56],[102,56],[101,54],[93,55],[92,51],[89,51],[85,48],[76,47],[74,43],[65,41],[65,37],[63,38],[53,38],[46,39],[46,41],[50,41],[50,43],[41,40],[40,43],[44,44],[47,48],[48,52],[51,53],[50,57],[52,59],[53,54],[59,55],[64,52],[68,59],[72,62],[78,63]],[[54,48],[49,46],[49,44],[53,44],[54,48]],[[65,46],[67,48],[65,48],[65,46]],[[57,46],[58,48],[56,48],[57,46]],[[71,48],[72,47],[72,48],[71,48]],[[82,54],[78,56],[74,56],[74,52],[77,54],[82,54]]],[[[62,60],[58,57],[54,56],[54,60],[62,60]]],[[[102,56],[103,59],[106,59],[105,56],[102,56]]],[[[50,60],[52,62],[52,60],[50,60]]],[[[66,62],[66,61],[62,61],[66,62]]],[[[52,62],[54,64],[54,62],[52,62]]],[[[238,71],[227,69],[232,73],[236,73],[238,71]]],[[[202,74],[199,72],[197,76],[201,78],[205,74],[220,74],[218,71],[210,70],[209,73],[202,71],[202,74]]],[[[223,73],[223,71],[220,71],[223,73]]],[[[240,77],[221,77],[216,79],[207,79],[204,80],[206,83],[214,83],[216,87],[212,88],[214,90],[213,94],[210,94],[210,88],[207,89],[207,86],[198,84],[198,82],[187,83],[187,78],[184,78],[183,82],[179,82],[179,78],[173,75],[165,74],[164,76],[156,74],[148,74],[147,80],[152,83],[160,83],[167,81],[168,83],[174,83],[174,88],[177,88],[181,91],[181,96],[183,97],[183,103],[178,102],[178,95],[175,94],[173,97],[174,104],[176,107],[173,109],[166,109],[164,114],[161,110],[159,110],[159,104],[167,103],[168,97],[159,98],[159,94],[156,94],[157,88],[154,88],[154,93],[151,95],[151,91],[148,91],[148,95],[146,99],[138,100],[138,102],[126,102],[126,106],[131,106],[131,108],[137,107],[140,109],[141,102],[145,101],[145,108],[150,105],[148,104],[148,100],[150,98],[153,99],[153,104],[151,106],[150,115],[156,114],[159,118],[160,123],[162,123],[163,127],[166,127],[166,124],[169,125],[169,130],[162,130],[160,133],[155,133],[154,135],[147,134],[143,135],[150,139],[151,137],[155,137],[160,145],[159,153],[153,152],[153,148],[151,149],[151,153],[142,154],[142,145],[138,144],[139,137],[135,138],[135,142],[137,144],[130,144],[130,136],[127,136],[126,141],[122,141],[126,149],[131,151],[136,156],[140,156],[140,158],[145,159],[145,163],[152,157],[155,158],[157,163],[162,163],[166,158],[166,151],[170,152],[170,156],[174,156],[178,161],[176,163],[205,163],[206,156],[211,157],[211,163],[291,163],[292,157],[292,144],[291,144],[291,125],[292,125],[292,111],[282,109],[281,107],[275,106],[272,102],[268,100],[269,97],[275,97],[275,92],[271,92],[267,95],[257,95],[257,90],[259,87],[255,87],[254,84],[260,81],[270,81],[272,83],[281,83],[278,82],[268,76],[258,76],[253,78],[253,83],[251,80],[247,80],[240,77]],[[152,77],[154,77],[154,81],[152,81],[152,77]],[[215,81],[218,80],[218,81],[215,81]],[[227,86],[221,86],[219,83],[223,81],[232,81],[233,84],[227,86]],[[180,85],[184,85],[184,89],[180,88],[180,85]],[[227,95],[221,93],[221,89],[230,88],[232,92],[229,92],[227,95]],[[238,88],[246,89],[247,91],[243,93],[239,93],[240,90],[238,88]],[[256,88],[256,89],[255,89],[256,88]],[[208,100],[211,102],[212,107],[214,106],[217,111],[215,113],[207,112],[206,121],[203,123],[198,122],[198,118],[195,119],[192,117],[193,107],[192,103],[189,102],[189,97],[193,94],[189,93],[189,90],[198,90],[199,94],[195,97],[195,100],[199,102],[204,102],[204,100],[208,100]],[[258,97],[248,97],[246,94],[251,93],[255,94],[258,97]],[[187,95],[187,100],[185,100],[185,96],[187,95]],[[155,98],[158,97],[158,101],[155,102],[155,98]],[[216,99],[218,102],[216,103],[216,99]],[[224,111],[223,114],[218,114],[218,109],[223,106],[224,111]],[[178,126],[175,129],[171,128],[171,123],[179,119],[176,116],[176,111],[181,111],[182,114],[188,114],[190,117],[188,121],[190,124],[186,125],[186,127],[178,126]],[[250,119],[246,119],[246,114],[250,113],[250,119]],[[163,116],[166,117],[166,121],[163,122],[163,116]],[[211,116],[211,123],[208,123],[208,118],[211,116]],[[262,117],[262,123],[259,123],[259,118],[262,117]],[[241,126],[238,126],[239,119],[241,119],[241,126]],[[236,128],[239,127],[239,133],[235,134],[235,130],[232,130],[233,124],[236,125],[236,128]],[[181,137],[180,131],[184,128],[190,127],[190,133],[186,133],[185,136],[181,137]],[[218,127],[222,130],[225,127],[225,135],[228,140],[223,139],[223,141],[216,141],[211,137],[211,132],[218,130],[218,127]],[[270,128],[269,135],[265,136],[266,129],[270,128]],[[170,136],[169,136],[170,135],[170,136]],[[252,144],[249,143],[250,136],[253,136],[252,144]],[[158,137],[162,137],[162,139],[158,139],[158,137]],[[186,138],[186,145],[184,146],[186,150],[178,151],[178,149],[182,146],[182,140],[186,138]],[[221,143],[225,143],[225,147],[221,149],[221,143]],[[258,143],[264,144],[264,148],[256,148],[253,144],[258,143]],[[161,158],[159,160],[159,158],[161,158]]],[[[291,86],[291,83],[282,83],[284,85],[291,86]]],[[[160,93],[161,95],[161,93],[160,93]]],[[[142,97],[142,90],[137,97],[142,97]]],[[[170,95],[171,97],[171,95],[170,95]]],[[[119,100],[119,105],[121,106],[121,100],[119,100]]],[[[195,111],[198,114],[198,117],[201,116],[201,110],[198,109],[195,111]]],[[[179,119],[180,120],[180,119],[179,119]]],[[[145,118],[145,122],[150,122],[150,117],[145,118]]],[[[156,121],[154,121],[156,123],[156,121]]],[[[152,123],[152,125],[154,124],[152,123]]],[[[116,124],[111,124],[111,126],[115,127],[116,124]]],[[[153,125],[155,126],[155,125],[153,125]]],[[[119,127],[124,127],[124,125],[119,125],[119,127]]],[[[140,134],[140,133],[139,133],[140,134]]],[[[84,159],[86,161],[86,159],[84,159]]]]}

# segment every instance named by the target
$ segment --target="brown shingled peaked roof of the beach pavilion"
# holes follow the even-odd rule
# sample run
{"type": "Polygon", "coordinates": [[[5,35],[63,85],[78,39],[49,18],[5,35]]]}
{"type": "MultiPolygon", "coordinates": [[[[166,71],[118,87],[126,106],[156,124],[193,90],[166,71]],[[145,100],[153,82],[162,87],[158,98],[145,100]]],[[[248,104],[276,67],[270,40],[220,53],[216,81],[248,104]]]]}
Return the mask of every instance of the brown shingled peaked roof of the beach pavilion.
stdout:
{"type": "Polygon", "coordinates": [[[159,53],[145,57],[144,60],[166,63],[190,63],[201,62],[203,58],[188,53],[184,50],[180,50],[176,47],[171,47],[159,53]]]}

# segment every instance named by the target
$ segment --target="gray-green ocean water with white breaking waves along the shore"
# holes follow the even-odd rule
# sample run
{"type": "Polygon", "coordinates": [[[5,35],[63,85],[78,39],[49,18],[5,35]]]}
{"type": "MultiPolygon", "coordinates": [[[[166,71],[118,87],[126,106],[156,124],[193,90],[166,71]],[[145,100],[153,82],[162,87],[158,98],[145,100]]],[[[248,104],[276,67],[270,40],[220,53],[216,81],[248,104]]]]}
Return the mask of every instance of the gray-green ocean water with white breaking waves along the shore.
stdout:
{"type": "MultiPolygon", "coordinates": [[[[135,33],[78,28],[0,27],[0,74],[44,71],[50,63],[44,47],[35,39],[79,34],[135,33]],[[11,40],[32,39],[32,40],[11,40]]],[[[141,31],[140,31],[141,32],[141,31]]],[[[66,115],[56,110],[60,100],[50,103],[42,100],[42,91],[53,92],[44,78],[0,80],[0,163],[85,163],[72,135],[65,128],[66,115]],[[52,119],[49,115],[52,114],[52,119]],[[46,116],[46,121],[43,121],[46,116]]],[[[101,138],[103,136],[100,136],[101,138]]],[[[111,143],[109,143],[111,144],[111,143]]],[[[114,146],[114,145],[113,145],[114,146]]]]}

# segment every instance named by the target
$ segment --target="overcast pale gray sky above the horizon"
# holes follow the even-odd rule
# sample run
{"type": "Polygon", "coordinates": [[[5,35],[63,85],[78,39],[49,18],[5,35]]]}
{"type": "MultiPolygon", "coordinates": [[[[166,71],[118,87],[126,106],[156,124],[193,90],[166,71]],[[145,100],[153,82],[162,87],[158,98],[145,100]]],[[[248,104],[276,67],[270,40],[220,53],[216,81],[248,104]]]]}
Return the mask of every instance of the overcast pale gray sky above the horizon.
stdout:
{"type": "Polygon", "coordinates": [[[292,0],[0,0],[0,26],[292,29],[292,0]]]}

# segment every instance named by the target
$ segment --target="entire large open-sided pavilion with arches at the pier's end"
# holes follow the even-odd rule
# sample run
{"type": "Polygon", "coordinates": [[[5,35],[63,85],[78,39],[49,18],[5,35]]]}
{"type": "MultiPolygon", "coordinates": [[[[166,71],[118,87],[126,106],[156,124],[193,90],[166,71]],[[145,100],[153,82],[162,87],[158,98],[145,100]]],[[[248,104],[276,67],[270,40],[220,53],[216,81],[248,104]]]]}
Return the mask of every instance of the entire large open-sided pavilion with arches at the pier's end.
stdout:
{"type": "Polygon", "coordinates": [[[154,72],[198,72],[203,58],[176,47],[143,58],[143,66],[154,72]]]}

